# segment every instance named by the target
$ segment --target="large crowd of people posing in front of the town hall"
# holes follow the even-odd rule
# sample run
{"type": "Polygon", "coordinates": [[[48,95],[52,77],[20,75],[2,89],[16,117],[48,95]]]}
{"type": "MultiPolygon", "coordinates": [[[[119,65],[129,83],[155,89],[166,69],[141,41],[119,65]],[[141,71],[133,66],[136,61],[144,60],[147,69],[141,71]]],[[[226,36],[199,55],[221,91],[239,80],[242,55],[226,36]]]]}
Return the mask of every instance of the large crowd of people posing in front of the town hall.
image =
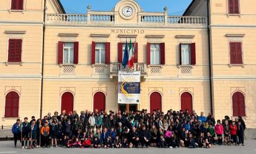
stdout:
{"type": "Polygon", "coordinates": [[[43,119],[27,117],[12,126],[14,145],[22,148],[211,148],[213,145],[244,145],[245,122],[229,116],[216,120],[213,114],[195,111],[62,111],[43,119]],[[29,142],[29,145],[27,145],[29,142]]]}

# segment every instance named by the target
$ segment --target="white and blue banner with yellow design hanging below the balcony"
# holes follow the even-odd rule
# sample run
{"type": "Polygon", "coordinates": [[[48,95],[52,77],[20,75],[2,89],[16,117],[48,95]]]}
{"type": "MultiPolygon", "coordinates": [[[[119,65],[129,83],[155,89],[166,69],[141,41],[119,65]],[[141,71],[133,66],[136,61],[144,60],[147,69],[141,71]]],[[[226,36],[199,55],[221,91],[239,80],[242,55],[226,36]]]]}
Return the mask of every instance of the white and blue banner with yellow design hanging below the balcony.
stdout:
{"type": "Polygon", "coordinates": [[[118,72],[118,103],[140,104],[140,71],[118,72]]]}

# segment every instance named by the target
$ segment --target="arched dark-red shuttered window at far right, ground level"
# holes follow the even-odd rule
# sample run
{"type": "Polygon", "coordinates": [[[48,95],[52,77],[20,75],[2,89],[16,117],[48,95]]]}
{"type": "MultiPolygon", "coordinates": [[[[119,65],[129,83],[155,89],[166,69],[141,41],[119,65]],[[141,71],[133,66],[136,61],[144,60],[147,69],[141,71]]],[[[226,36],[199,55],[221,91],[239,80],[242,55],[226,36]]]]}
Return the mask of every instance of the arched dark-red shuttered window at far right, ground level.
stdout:
{"type": "Polygon", "coordinates": [[[240,92],[232,96],[233,116],[245,116],[245,97],[240,92]]]}

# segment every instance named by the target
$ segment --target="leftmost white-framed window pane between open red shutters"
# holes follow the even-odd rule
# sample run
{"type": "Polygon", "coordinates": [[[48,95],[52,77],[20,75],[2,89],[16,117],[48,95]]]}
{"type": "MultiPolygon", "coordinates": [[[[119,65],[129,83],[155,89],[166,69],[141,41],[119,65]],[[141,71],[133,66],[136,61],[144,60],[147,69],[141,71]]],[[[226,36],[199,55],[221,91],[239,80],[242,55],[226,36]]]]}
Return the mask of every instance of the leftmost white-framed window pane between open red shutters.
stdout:
{"type": "Polygon", "coordinates": [[[64,42],[63,64],[73,64],[73,63],[74,63],[74,43],[64,42]]]}

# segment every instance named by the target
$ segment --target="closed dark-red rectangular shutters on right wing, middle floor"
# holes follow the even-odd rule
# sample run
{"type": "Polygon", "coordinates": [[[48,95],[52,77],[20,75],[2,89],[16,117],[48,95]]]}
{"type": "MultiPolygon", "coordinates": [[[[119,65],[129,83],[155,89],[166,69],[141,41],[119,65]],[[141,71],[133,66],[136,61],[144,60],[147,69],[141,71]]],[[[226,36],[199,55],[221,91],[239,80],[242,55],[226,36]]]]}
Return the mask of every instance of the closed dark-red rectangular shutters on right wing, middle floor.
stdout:
{"type": "Polygon", "coordinates": [[[243,63],[242,58],[242,43],[241,42],[229,42],[230,63],[237,65],[243,63]]]}

